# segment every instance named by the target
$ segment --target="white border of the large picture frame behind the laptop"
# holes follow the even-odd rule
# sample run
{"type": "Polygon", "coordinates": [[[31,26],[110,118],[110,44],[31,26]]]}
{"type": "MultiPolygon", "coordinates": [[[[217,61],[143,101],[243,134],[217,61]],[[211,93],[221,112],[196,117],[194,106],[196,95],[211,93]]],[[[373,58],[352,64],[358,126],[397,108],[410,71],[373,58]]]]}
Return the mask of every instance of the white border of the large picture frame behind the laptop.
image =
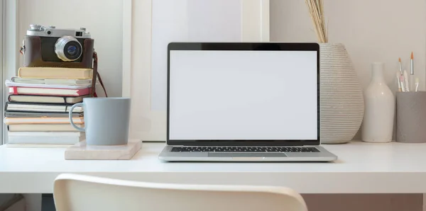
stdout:
{"type": "MultiPolygon", "coordinates": [[[[132,97],[131,138],[165,142],[166,110],[151,110],[153,1],[124,0],[122,96],[132,97]]],[[[241,42],[269,41],[269,1],[241,1],[241,42]]]]}

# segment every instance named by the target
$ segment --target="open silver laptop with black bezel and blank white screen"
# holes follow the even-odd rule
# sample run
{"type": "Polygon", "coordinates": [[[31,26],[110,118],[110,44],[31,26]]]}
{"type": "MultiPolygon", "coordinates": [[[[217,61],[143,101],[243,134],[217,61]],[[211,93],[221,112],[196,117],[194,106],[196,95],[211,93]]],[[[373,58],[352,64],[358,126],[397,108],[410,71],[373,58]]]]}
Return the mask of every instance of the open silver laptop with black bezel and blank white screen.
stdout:
{"type": "Polygon", "coordinates": [[[164,161],[334,161],[320,147],[317,43],[168,45],[164,161]]]}

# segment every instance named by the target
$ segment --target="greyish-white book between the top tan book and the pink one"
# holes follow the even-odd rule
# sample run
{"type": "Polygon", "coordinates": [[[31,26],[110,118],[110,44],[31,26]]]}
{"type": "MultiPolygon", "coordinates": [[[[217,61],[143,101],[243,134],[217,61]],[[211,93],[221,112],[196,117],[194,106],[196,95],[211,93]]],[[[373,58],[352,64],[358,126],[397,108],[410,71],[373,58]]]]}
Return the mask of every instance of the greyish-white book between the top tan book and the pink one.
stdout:
{"type": "Polygon", "coordinates": [[[50,84],[50,85],[92,85],[92,79],[31,79],[12,77],[12,82],[22,84],[50,84]]]}

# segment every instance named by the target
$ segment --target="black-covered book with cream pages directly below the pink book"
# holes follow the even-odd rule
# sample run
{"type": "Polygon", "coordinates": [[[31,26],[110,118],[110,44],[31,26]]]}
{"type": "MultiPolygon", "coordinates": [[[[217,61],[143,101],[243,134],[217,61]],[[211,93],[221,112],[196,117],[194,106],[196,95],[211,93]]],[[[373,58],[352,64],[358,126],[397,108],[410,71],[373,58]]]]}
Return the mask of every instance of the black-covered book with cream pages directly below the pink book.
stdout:
{"type": "Polygon", "coordinates": [[[75,104],[83,101],[86,96],[67,97],[67,96],[33,96],[33,95],[9,95],[9,102],[14,103],[59,103],[75,104]]]}

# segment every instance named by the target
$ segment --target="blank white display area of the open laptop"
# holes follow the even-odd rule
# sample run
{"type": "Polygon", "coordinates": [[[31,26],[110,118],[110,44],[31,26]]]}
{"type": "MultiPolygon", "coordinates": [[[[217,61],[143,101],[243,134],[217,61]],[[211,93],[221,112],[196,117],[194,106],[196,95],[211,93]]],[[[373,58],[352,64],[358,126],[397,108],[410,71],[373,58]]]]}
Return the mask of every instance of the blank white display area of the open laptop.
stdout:
{"type": "Polygon", "coordinates": [[[170,50],[170,140],[317,140],[317,52],[170,50]]]}

